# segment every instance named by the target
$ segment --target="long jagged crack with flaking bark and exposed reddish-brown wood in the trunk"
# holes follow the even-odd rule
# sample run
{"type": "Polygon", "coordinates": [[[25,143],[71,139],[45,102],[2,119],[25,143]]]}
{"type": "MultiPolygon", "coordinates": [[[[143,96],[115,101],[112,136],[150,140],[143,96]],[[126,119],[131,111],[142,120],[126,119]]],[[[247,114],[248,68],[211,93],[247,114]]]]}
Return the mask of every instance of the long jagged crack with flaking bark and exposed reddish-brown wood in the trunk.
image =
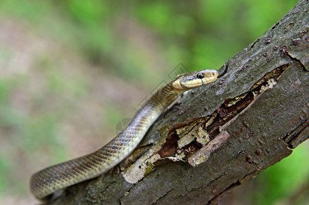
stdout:
{"type": "MultiPolygon", "coordinates": [[[[166,142],[161,146],[158,152],[154,153],[160,154],[160,160],[166,160],[156,163],[155,166],[166,163],[170,161],[170,159],[178,159],[179,157],[177,158],[176,155],[180,155],[180,153],[184,154],[182,159],[187,159],[188,163],[192,166],[197,166],[207,161],[210,154],[223,146],[225,141],[230,137],[228,133],[221,135],[229,123],[236,120],[238,115],[248,109],[264,91],[272,89],[277,84],[277,80],[290,65],[291,64],[284,64],[267,72],[251,86],[249,92],[244,92],[234,98],[225,99],[223,104],[212,114],[204,118],[193,120],[190,124],[171,128],[167,134],[168,137],[166,142]],[[190,132],[193,132],[197,127],[205,129],[210,141],[202,146],[201,143],[197,141],[197,137],[195,137],[194,139],[190,139],[191,141],[189,141],[190,143],[188,143],[188,145],[178,148],[177,141],[182,139],[185,135],[190,134],[190,132]]],[[[239,133],[234,133],[234,137],[238,135],[239,133]]],[[[257,164],[251,160],[251,156],[248,154],[246,161],[251,164],[257,164]]]]}

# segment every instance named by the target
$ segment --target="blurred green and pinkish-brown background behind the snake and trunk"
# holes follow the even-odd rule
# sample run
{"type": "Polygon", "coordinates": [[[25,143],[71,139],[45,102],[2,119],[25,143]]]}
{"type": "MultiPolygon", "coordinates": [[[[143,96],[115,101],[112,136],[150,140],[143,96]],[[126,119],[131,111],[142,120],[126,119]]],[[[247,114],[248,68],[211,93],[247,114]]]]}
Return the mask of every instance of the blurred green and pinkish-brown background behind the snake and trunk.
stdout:
{"type": "MultiPolygon", "coordinates": [[[[100,148],[178,64],[220,68],[296,3],[1,0],[0,204],[34,204],[31,174],[100,148]]],[[[222,203],[308,203],[308,156],[222,203]]]]}

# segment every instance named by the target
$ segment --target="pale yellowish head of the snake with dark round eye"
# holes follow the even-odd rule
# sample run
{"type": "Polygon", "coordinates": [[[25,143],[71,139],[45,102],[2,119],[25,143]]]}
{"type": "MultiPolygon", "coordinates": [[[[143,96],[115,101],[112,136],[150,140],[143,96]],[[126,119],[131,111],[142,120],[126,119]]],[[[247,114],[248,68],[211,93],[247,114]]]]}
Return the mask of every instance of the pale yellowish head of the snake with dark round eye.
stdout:
{"type": "Polygon", "coordinates": [[[173,87],[180,90],[189,90],[216,81],[218,75],[217,70],[209,69],[179,74],[173,81],[173,87]]]}

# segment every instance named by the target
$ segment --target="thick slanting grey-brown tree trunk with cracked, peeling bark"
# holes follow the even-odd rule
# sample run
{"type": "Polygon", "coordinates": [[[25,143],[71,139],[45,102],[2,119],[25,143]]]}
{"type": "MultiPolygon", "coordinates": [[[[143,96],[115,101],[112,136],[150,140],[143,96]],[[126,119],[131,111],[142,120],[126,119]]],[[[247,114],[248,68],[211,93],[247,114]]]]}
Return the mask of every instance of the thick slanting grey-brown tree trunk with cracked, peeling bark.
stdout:
{"type": "Polygon", "coordinates": [[[110,173],[51,204],[216,204],[308,139],[308,1],[184,94],[110,173]],[[223,69],[221,69],[222,72],[223,69]]]}

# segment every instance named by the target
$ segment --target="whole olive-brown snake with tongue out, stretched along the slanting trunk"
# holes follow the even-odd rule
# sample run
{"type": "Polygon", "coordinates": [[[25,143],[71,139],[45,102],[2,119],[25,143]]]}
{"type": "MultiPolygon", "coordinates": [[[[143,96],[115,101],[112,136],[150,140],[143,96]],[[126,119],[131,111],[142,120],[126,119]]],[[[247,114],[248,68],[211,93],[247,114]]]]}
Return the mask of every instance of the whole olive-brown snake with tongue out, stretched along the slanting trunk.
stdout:
{"type": "Polygon", "coordinates": [[[197,70],[179,74],[162,87],[134,115],[132,121],[99,150],[64,163],[40,170],[30,178],[30,191],[36,199],[45,201],[56,191],[95,178],[119,164],[138,146],[150,126],[184,92],[216,81],[217,70],[197,70]]]}

